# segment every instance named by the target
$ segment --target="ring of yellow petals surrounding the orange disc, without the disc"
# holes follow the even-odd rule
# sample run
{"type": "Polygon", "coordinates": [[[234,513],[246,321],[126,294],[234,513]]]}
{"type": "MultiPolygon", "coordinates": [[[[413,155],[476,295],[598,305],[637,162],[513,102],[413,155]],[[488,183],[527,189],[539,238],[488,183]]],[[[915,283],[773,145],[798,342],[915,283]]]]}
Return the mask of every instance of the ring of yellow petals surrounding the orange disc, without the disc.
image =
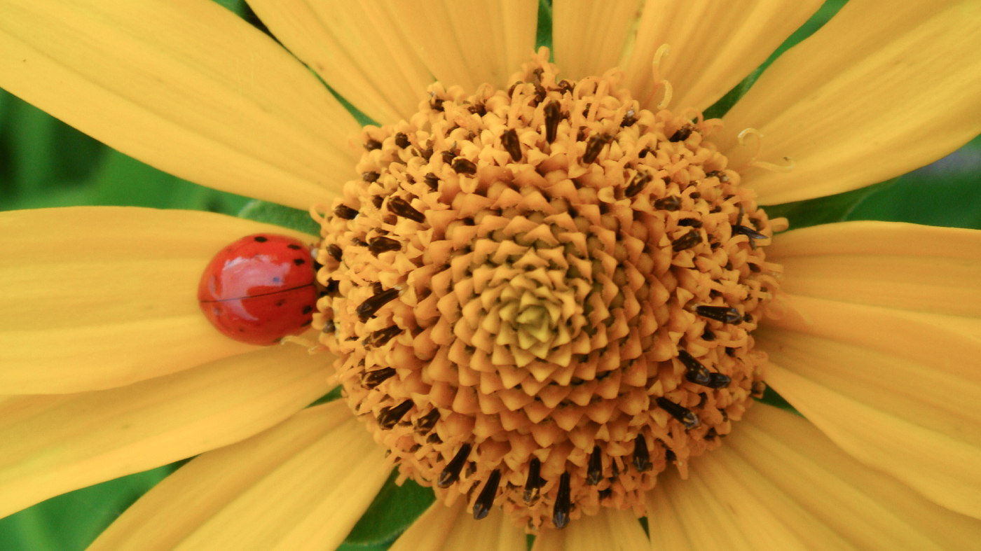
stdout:
{"type": "MultiPolygon", "coordinates": [[[[556,0],[555,60],[575,79],[619,65],[650,109],[669,82],[676,111],[701,111],[819,4],[556,0]]],[[[307,209],[358,177],[358,125],[289,52],[389,125],[430,99],[432,76],[468,93],[506,84],[537,9],[251,5],[289,51],[205,0],[0,0],[0,86],[157,168],[307,209]]],[[[979,24],[976,0],[852,0],[713,140],[762,205],[904,174],[981,131],[979,24]],[[749,127],[758,150],[739,146],[749,127]],[[784,158],[793,171],[767,165],[784,158]]],[[[290,233],[134,208],[0,215],[0,514],[201,454],[92,549],[339,544],[388,476],[385,450],[339,401],[304,409],[332,386],[325,356],[233,342],[193,296],[217,250],[271,230],[290,233]]],[[[662,474],[649,543],[632,513],[604,508],[542,530],[538,549],[976,548],[981,232],[822,225],[766,253],[784,267],[786,312],[753,336],[766,382],[806,420],[757,405],[687,480],[662,474]]],[[[478,522],[458,501],[395,547],[524,542],[498,510],[478,522]]]]}

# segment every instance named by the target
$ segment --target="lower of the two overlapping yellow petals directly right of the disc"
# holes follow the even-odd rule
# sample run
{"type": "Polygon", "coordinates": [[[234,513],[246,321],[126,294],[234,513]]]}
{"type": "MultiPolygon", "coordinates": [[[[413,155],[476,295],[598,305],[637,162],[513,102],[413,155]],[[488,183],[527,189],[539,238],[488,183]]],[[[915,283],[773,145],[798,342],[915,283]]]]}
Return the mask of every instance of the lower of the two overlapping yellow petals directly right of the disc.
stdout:
{"type": "Polygon", "coordinates": [[[981,518],[981,339],[962,318],[787,295],[767,383],[845,451],[981,518]]]}

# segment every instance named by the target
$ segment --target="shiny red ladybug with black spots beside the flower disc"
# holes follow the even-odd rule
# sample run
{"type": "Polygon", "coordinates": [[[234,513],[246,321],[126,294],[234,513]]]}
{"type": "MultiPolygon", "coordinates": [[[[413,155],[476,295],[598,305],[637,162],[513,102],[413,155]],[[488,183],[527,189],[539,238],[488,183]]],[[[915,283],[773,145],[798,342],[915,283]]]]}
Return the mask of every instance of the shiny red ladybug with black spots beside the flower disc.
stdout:
{"type": "Polygon", "coordinates": [[[211,324],[233,339],[276,344],[313,321],[315,276],[310,248],[301,241],[246,235],[211,259],[197,300],[211,324]]]}

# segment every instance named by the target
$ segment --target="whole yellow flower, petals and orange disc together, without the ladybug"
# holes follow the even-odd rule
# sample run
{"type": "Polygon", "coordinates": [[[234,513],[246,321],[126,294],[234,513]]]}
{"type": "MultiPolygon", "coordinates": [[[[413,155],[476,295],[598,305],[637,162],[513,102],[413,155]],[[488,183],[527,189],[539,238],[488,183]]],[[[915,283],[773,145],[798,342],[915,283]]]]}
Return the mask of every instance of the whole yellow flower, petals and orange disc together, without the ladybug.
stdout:
{"type": "Polygon", "coordinates": [[[515,519],[539,549],[981,538],[981,237],[774,236],[764,212],[981,130],[976,2],[852,0],[721,125],[699,113],[817,2],[556,1],[555,65],[510,79],[534,2],[251,4],[382,124],[358,153],[302,64],[204,0],[0,0],[0,85],[176,175],[312,205],[348,404],[305,407],[328,356],[198,313],[208,258],[270,227],[4,214],[6,511],[201,454],[93,549],[334,548],[395,463],[440,498],[399,549],[520,547],[515,519]],[[806,419],[744,412],[761,380],[806,419]]]}

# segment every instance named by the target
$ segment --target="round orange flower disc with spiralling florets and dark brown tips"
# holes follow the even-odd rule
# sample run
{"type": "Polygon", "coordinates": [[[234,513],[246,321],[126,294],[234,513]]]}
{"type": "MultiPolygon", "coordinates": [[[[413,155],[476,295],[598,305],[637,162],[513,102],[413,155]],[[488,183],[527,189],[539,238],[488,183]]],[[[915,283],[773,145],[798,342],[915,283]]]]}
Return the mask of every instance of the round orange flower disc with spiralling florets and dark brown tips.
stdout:
{"type": "Polygon", "coordinates": [[[719,445],[762,391],[749,331],[779,271],[718,121],[547,58],[364,129],[314,322],[403,477],[533,531],[644,514],[659,472],[719,445]]]}

